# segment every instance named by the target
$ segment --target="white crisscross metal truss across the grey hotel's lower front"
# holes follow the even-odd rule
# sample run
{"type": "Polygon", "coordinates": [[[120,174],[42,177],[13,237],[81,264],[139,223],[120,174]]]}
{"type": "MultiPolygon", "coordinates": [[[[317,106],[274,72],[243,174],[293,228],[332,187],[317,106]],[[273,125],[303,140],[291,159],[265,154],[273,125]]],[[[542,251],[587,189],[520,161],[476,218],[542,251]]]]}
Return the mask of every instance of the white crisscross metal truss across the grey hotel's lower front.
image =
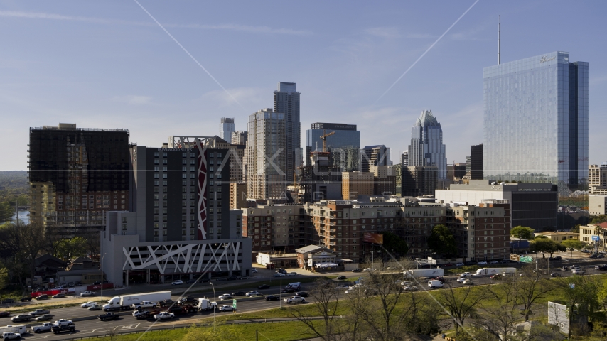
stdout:
{"type": "Polygon", "coordinates": [[[169,274],[238,271],[241,269],[238,261],[241,247],[241,242],[123,247],[127,260],[122,270],[144,270],[156,266],[160,274],[166,274],[167,268],[173,270],[169,274]],[[207,253],[210,256],[205,257],[207,253]]]}

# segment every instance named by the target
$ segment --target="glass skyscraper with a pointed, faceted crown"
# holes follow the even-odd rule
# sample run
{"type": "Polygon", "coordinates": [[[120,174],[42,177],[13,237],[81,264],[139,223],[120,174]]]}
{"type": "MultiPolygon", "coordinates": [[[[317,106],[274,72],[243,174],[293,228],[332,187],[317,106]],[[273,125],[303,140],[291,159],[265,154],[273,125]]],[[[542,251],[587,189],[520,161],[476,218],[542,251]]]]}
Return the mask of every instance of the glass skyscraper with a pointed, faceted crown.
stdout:
{"type": "Polygon", "coordinates": [[[411,129],[408,166],[435,166],[439,170],[438,179],[447,178],[443,129],[430,110],[421,112],[411,129]]]}

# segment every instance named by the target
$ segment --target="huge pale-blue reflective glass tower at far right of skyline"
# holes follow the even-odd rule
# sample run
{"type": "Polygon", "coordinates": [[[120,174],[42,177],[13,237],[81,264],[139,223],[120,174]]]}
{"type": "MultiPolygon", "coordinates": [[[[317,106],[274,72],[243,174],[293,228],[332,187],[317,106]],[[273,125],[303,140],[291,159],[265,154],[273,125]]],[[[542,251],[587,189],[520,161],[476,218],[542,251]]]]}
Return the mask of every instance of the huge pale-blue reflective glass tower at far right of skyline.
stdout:
{"type": "Polygon", "coordinates": [[[485,179],[559,185],[588,172],[588,63],[553,52],[483,69],[485,179]]]}

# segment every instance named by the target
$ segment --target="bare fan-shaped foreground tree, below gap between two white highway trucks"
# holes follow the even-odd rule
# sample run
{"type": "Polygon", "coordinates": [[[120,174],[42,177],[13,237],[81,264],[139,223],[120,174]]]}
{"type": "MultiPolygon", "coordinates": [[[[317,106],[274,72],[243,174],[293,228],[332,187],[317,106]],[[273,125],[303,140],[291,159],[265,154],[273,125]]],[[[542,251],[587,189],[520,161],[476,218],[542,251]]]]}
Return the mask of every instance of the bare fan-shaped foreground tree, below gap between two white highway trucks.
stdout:
{"type": "Polygon", "coordinates": [[[456,329],[456,337],[462,335],[461,330],[466,318],[476,312],[478,304],[485,298],[485,294],[474,290],[473,286],[453,288],[449,282],[446,282],[445,288],[436,293],[436,296],[449,313],[451,324],[456,329]]]}

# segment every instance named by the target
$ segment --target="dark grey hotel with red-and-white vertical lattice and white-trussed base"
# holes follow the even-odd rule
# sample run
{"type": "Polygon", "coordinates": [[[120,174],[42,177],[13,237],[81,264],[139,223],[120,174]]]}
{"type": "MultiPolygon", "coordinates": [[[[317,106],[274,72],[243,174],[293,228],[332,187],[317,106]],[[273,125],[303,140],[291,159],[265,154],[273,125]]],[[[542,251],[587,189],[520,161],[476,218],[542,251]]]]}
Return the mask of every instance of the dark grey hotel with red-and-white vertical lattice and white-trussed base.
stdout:
{"type": "Polygon", "coordinates": [[[230,210],[228,148],[218,136],[171,136],[131,148],[130,212],[107,212],[107,280],[165,283],[250,274],[242,211],[230,210]]]}

